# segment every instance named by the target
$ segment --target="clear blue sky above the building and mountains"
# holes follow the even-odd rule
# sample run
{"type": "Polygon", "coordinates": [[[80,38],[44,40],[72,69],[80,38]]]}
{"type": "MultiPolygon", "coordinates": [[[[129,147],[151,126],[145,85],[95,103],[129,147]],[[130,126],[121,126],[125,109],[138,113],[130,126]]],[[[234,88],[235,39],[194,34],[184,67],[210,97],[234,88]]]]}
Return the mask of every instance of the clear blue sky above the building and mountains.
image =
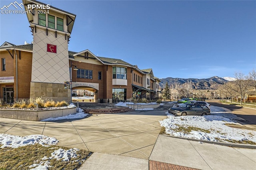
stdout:
{"type": "MultiPolygon", "coordinates": [[[[256,1],[39,1],[76,14],[70,51],[123,59],[159,78],[256,68],[256,1]]],[[[26,14],[0,14],[0,44],[32,40],[26,14]]]]}

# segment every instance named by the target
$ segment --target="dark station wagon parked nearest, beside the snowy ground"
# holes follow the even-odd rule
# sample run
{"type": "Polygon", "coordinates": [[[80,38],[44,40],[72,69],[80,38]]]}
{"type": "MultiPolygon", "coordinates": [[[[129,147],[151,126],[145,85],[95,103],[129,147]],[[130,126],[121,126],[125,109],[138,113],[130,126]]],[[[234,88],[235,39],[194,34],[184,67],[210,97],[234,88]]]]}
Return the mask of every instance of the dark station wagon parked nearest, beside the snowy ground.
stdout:
{"type": "Polygon", "coordinates": [[[204,116],[210,115],[210,109],[206,105],[195,105],[195,104],[184,104],[182,107],[171,107],[168,110],[169,113],[172,113],[176,116],[186,116],[186,115],[196,115],[204,116]]]}

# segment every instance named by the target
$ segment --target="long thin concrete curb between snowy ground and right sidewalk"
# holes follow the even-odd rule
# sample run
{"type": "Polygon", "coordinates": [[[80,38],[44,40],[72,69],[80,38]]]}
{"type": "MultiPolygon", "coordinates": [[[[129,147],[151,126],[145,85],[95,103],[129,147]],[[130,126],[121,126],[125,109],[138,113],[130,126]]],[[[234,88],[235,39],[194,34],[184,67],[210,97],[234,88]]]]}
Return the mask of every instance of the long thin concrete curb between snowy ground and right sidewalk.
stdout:
{"type": "Polygon", "coordinates": [[[170,136],[166,134],[159,134],[162,136],[168,136],[171,138],[179,138],[179,139],[184,139],[184,140],[191,140],[191,141],[197,141],[197,142],[204,142],[204,143],[209,143],[209,144],[218,144],[222,146],[230,146],[234,148],[248,148],[248,149],[256,149],[256,145],[252,144],[239,144],[239,143],[226,143],[226,142],[215,142],[215,141],[208,141],[208,140],[198,140],[198,139],[192,139],[192,138],[184,138],[184,137],[179,137],[179,136],[170,136]]]}

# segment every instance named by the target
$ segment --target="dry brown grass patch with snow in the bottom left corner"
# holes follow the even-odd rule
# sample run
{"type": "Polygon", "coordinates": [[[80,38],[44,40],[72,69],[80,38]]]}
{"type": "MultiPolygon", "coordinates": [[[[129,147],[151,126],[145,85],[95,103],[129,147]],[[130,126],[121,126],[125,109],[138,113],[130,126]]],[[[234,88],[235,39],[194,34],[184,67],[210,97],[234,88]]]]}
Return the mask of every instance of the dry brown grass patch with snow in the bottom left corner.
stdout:
{"type": "MultiPolygon", "coordinates": [[[[0,169],[15,169],[24,170],[29,169],[28,166],[40,163],[44,156],[50,157],[54,150],[59,148],[68,150],[69,148],[60,146],[44,147],[40,144],[22,146],[18,148],[0,148],[0,169]]],[[[90,151],[80,150],[77,152],[76,158],[71,158],[70,161],[65,162],[62,160],[51,159],[49,170],[74,170],[79,168],[82,163],[92,154],[90,151]]]]}

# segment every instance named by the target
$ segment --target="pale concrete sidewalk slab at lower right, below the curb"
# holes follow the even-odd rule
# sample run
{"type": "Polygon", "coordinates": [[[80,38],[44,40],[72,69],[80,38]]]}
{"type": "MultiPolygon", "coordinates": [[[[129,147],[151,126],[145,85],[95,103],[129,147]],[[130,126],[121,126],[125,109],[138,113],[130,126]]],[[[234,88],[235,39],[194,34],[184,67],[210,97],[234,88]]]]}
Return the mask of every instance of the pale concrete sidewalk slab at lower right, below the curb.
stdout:
{"type": "Polygon", "coordinates": [[[202,170],[252,170],[256,167],[256,149],[159,135],[149,160],[202,170]]]}

